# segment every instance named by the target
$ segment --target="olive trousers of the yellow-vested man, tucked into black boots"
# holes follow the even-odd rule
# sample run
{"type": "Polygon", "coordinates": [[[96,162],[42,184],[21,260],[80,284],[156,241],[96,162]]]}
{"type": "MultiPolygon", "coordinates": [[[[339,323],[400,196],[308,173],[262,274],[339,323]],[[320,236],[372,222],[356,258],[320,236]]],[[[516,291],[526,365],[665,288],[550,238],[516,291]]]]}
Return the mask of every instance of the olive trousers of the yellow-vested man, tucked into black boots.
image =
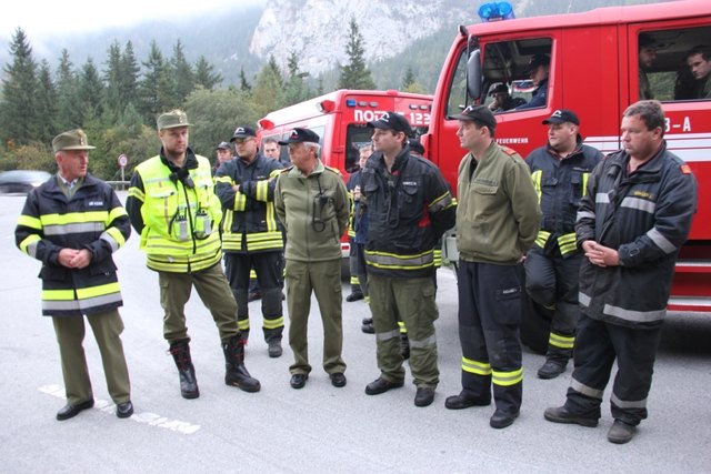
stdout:
{"type": "Polygon", "coordinates": [[[237,303],[219,262],[193,273],[158,272],[158,282],[160,304],[166,312],[163,337],[169,343],[190,341],[184,309],[193,285],[200,300],[212,314],[220,341],[227,343],[240,334],[237,326],[237,303]]]}

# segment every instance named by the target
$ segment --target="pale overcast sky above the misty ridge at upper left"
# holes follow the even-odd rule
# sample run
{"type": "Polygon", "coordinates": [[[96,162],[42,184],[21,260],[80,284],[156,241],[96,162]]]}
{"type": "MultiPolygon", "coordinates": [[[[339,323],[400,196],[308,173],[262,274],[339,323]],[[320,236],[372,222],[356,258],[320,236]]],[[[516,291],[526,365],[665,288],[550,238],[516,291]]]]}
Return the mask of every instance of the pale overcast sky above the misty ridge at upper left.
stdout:
{"type": "Polygon", "coordinates": [[[20,27],[31,39],[124,27],[148,19],[184,18],[236,4],[266,0],[9,0],[0,14],[0,37],[10,41],[20,27]]]}

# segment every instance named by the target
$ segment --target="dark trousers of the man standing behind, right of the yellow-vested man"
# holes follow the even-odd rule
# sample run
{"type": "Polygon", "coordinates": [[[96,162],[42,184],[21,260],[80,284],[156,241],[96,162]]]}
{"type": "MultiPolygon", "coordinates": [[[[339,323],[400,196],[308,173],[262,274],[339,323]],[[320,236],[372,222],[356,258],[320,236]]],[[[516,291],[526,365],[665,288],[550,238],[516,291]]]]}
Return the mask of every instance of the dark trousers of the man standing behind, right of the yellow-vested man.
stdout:
{"type": "Polygon", "coordinates": [[[237,320],[240,331],[250,329],[248,305],[250,270],[253,268],[257,273],[257,282],[262,293],[262,330],[267,342],[281,340],[284,330],[281,305],[281,278],[279,275],[280,272],[283,272],[283,269],[280,253],[224,253],[224,270],[237,301],[237,320]]]}

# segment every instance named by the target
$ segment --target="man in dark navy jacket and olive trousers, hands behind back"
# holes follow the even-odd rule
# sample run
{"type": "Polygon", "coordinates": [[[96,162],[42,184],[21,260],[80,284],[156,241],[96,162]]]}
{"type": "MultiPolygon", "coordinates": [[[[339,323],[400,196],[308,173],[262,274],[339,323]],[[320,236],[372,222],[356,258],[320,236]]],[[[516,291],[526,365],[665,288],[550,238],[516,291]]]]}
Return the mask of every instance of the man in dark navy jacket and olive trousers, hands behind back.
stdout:
{"type": "Polygon", "coordinates": [[[365,393],[403,385],[400,317],[410,340],[414,405],[428,406],[439,384],[434,242],[454,225],[457,204],[437,167],[410,154],[412,129],[404,117],[385,112],[368,125],[374,129],[375,152],[362,170],[361,193],[369,219],[365,263],[380,376],[365,393]]]}

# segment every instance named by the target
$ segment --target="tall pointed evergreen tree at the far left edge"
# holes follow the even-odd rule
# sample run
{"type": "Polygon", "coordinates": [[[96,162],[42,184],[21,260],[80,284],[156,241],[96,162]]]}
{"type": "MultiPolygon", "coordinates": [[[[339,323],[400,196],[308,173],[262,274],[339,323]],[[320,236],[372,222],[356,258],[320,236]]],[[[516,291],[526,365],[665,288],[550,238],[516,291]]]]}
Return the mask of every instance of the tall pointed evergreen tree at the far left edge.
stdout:
{"type": "Polygon", "coordinates": [[[12,62],[6,64],[2,79],[2,139],[6,143],[20,145],[38,140],[42,128],[42,111],[37,103],[37,62],[32,57],[32,47],[20,28],[12,36],[10,54],[12,62]]]}

